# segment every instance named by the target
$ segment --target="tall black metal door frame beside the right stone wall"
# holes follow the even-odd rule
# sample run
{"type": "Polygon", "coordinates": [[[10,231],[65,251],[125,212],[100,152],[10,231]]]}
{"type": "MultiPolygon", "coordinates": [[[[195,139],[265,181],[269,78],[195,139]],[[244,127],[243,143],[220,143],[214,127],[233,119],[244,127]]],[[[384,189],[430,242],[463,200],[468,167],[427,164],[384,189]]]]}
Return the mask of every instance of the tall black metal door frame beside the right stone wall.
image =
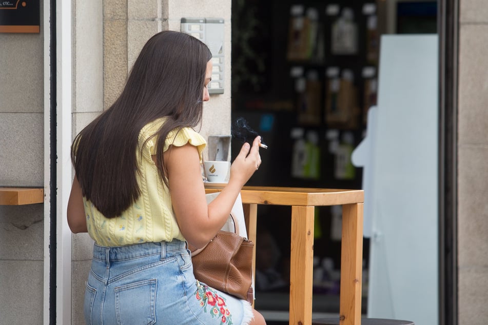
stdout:
{"type": "Polygon", "coordinates": [[[439,324],[458,324],[457,118],[459,0],[439,0],[439,324]]]}

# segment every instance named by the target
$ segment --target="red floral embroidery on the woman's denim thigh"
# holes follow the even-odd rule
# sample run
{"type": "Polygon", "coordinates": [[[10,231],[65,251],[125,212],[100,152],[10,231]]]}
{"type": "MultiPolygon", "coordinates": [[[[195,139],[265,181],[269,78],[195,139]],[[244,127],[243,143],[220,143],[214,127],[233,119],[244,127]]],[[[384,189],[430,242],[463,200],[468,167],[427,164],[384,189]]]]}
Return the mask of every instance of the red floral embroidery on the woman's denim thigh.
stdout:
{"type": "Polygon", "coordinates": [[[200,306],[204,308],[206,313],[209,312],[212,317],[220,317],[221,324],[233,324],[232,315],[230,315],[230,312],[227,309],[225,299],[220,297],[216,291],[212,290],[207,285],[202,285],[199,280],[197,280],[195,297],[197,300],[200,300],[200,306]],[[207,311],[207,307],[209,307],[210,310],[207,311]]]}

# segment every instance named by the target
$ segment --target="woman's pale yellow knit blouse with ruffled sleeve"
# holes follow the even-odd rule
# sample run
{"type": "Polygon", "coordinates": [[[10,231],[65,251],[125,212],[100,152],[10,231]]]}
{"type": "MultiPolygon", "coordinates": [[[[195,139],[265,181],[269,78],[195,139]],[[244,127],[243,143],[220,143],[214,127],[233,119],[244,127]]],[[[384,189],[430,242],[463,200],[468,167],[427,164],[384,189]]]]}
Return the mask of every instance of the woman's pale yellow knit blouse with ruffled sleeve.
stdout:
{"type": "MultiPolygon", "coordinates": [[[[138,140],[140,147],[159,130],[164,120],[157,119],[141,130],[138,140]]],[[[173,213],[169,189],[160,180],[158,168],[151,157],[156,154],[156,142],[156,137],[147,141],[140,159],[139,153],[135,153],[140,166],[140,173],[136,177],[141,195],[122,215],[106,218],[84,198],[88,233],[98,245],[123,246],[141,242],[185,240],[173,213]]],[[[197,147],[201,163],[206,141],[191,128],[183,128],[179,132],[171,131],[163,150],[166,151],[170,145],[181,147],[186,144],[197,147]]]]}

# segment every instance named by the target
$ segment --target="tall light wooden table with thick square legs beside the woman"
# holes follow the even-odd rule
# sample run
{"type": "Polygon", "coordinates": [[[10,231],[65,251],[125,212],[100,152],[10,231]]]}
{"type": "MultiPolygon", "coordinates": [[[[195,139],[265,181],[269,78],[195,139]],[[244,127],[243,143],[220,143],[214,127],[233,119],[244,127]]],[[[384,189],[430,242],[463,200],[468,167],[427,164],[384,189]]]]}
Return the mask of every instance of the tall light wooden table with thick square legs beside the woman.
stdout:
{"type": "MultiPolygon", "coordinates": [[[[216,186],[211,188],[206,186],[207,193],[221,189],[216,186]]],[[[256,242],[258,205],[291,206],[290,325],[312,323],[315,207],[342,205],[339,318],[341,325],[360,324],[364,192],[362,190],[244,187],[241,197],[248,237],[254,242],[256,242]]]]}

